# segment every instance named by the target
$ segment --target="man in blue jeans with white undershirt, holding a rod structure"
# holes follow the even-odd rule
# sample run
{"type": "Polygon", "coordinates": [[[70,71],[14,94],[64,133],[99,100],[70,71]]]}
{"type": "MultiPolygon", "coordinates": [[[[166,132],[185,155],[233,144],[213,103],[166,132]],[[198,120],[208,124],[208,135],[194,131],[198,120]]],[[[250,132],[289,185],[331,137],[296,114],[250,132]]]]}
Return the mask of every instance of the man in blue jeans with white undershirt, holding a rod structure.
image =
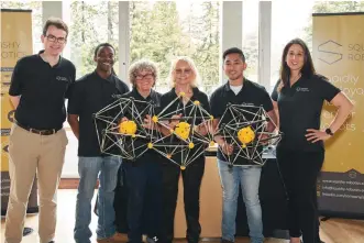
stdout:
{"type": "MultiPolygon", "coordinates": [[[[252,82],[244,78],[243,71],[246,68],[245,57],[241,49],[229,48],[223,53],[223,69],[229,77],[229,81],[218,88],[210,99],[211,114],[214,117],[214,125],[223,117],[221,124],[229,123],[232,119],[230,115],[223,115],[227,106],[231,104],[247,104],[263,106],[268,115],[276,120],[273,110],[269,95],[264,87],[252,82]]],[[[268,125],[268,128],[273,128],[268,125]]],[[[234,242],[235,235],[235,218],[238,208],[239,185],[241,184],[244,203],[246,207],[247,223],[250,228],[250,236],[252,243],[263,243],[263,222],[262,209],[258,198],[258,187],[261,178],[261,166],[247,165],[249,162],[239,157],[236,164],[243,166],[229,166],[225,156],[222,154],[231,154],[234,148],[229,141],[225,141],[220,135],[216,135],[214,140],[220,146],[218,151],[218,166],[223,188],[223,212],[222,212],[222,242],[234,242]],[[246,164],[246,165],[244,165],[246,164]]]]}

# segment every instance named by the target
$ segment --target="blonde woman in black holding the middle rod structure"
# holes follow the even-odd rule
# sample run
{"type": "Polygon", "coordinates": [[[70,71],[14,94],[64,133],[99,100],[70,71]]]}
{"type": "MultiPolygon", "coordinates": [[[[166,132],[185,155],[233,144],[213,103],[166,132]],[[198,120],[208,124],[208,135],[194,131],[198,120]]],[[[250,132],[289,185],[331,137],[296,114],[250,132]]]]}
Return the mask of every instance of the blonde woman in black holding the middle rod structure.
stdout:
{"type": "MultiPolygon", "coordinates": [[[[178,104],[168,108],[167,113],[175,112],[174,115],[179,115],[181,119],[189,113],[189,108],[186,107],[184,112],[176,111],[177,106],[186,104],[188,100],[198,100],[206,110],[210,110],[208,97],[206,93],[197,88],[199,81],[198,70],[191,58],[183,56],[176,58],[170,66],[169,80],[173,86],[170,91],[166,92],[161,98],[161,108],[167,107],[179,92],[185,92],[186,96],[181,98],[178,104]]],[[[176,125],[176,121],[169,123],[169,126],[176,125]]],[[[200,185],[205,172],[205,155],[200,155],[192,164],[185,170],[172,163],[163,165],[163,227],[162,227],[162,242],[169,243],[174,238],[174,217],[176,211],[177,195],[178,195],[178,179],[181,174],[184,180],[184,200],[185,213],[187,221],[187,241],[198,242],[201,227],[199,223],[199,195],[200,185]]]]}

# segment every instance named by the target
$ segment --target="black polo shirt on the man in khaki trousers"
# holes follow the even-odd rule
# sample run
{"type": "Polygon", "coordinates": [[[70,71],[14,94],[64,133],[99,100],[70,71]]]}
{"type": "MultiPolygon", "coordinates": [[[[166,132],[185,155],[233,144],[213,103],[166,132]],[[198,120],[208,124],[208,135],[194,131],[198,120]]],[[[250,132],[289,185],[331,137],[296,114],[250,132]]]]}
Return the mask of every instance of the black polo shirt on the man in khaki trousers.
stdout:
{"type": "Polygon", "coordinates": [[[37,55],[18,60],[11,77],[10,96],[21,96],[15,120],[22,125],[37,129],[60,129],[66,120],[65,98],[75,82],[76,68],[59,57],[51,66],[37,55]]]}

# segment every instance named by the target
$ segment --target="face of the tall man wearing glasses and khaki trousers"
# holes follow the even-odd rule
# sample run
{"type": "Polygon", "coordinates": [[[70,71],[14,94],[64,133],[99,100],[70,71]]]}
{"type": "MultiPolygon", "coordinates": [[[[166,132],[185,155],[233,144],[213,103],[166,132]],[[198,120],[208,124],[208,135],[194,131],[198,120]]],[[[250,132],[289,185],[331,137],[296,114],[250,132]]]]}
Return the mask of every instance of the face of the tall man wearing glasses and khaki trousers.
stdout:
{"type": "Polygon", "coordinates": [[[51,56],[58,56],[67,42],[67,32],[54,25],[49,25],[45,35],[41,36],[44,44],[44,52],[51,56]]]}

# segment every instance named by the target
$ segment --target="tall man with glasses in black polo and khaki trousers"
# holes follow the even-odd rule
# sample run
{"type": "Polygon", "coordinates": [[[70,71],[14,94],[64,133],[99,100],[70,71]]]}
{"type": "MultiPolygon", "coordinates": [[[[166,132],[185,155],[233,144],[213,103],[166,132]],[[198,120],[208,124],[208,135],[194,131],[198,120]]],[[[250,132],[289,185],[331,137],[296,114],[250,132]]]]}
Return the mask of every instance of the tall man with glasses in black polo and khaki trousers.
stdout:
{"type": "Polygon", "coordinates": [[[76,68],[60,56],[68,27],[60,19],[48,19],[43,27],[44,51],[20,59],[9,95],[15,122],[9,137],[11,178],[5,222],[5,242],[22,240],[27,198],[35,173],[40,187],[40,240],[53,242],[56,229],[56,192],[66,145],[63,123],[65,98],[75,81],[76,68]]]}

